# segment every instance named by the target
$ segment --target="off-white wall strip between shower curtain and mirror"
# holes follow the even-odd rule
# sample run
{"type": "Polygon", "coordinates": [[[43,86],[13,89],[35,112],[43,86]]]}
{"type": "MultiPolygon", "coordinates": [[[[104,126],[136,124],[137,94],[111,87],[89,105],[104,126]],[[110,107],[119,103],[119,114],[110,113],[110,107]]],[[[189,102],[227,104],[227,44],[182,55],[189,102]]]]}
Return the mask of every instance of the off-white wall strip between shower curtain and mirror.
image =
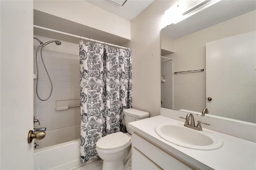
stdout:
{"type": "Polygon", "coordinates": [[[161,40],[164,11],[174,1],[156,0],[131,22],[132,107],[160,115],[161,40]]]}

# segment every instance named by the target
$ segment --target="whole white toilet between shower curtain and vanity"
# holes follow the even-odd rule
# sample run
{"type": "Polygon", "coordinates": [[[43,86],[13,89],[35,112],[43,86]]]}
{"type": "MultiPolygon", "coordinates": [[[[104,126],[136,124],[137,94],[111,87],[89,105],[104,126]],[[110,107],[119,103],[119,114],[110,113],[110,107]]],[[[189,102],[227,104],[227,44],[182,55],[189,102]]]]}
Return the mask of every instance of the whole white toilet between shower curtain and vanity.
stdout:
{"type": "Polygon", "coordinates": [[[136,109],[124,109],[124,122],[128,133],[116,132],[106,135],[96,142],[96,151],[103,160],[102,170],[123,170],[124,163],[131,157],[132,130],[128,123],[146,119],[148,112],[136,109]]]}

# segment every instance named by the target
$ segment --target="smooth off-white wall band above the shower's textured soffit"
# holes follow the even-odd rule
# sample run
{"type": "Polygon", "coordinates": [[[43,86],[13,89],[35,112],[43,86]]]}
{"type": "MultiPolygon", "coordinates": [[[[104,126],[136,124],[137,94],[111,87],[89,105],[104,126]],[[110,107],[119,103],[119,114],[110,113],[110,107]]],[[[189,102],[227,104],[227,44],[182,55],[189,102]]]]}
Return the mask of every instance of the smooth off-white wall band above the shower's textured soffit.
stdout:
{"type": "Polygon", "coordinates": [[[34,9],[131,39],[130,21],[83,0],[35,0],[34,9]]]}

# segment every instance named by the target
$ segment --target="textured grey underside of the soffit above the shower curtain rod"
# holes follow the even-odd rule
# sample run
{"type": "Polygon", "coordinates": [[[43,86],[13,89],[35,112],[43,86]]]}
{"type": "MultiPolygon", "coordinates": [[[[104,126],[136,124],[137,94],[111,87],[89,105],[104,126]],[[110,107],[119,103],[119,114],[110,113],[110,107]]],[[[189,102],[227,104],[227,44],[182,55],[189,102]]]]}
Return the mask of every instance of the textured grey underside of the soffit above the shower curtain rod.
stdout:
{"type": "MultiPolygon", "coordinates": [[[[66,20],[38,10],[34,10],[34,25],[50,28],[53,30],[58,30],[61,32],[66,32],[69,34],[75,34],[78,36],[91,38],[102,42],[112,43],[120,46],[129,41],[126,38],[122,38],[114,34],[103,32],[101,30],[97,30],[95,28],[91,28],[82,24],[78,24],[76,22],[72,22],[70,20],[66,20]]],[[[34,28],[34,35],[44,36],[72,43],[78,43],[80,40],[79,38],[74,38],[71,36],[66,36],[63,34],[42,30],[40,28],[34,28]]]]}

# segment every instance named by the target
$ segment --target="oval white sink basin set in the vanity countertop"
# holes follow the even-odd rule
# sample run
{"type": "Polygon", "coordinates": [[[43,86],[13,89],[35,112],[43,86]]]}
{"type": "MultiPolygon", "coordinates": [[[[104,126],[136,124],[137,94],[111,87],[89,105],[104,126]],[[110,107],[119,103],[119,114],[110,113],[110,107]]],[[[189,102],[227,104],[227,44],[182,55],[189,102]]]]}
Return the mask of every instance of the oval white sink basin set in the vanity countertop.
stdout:
{"type": "Polygon", "coordinates": [[[179,123],[160,124],[155,131],[164,140],[185,148],[215,150],[223,145],[221,138],[207,130],[194,130],[179,123]]]}

